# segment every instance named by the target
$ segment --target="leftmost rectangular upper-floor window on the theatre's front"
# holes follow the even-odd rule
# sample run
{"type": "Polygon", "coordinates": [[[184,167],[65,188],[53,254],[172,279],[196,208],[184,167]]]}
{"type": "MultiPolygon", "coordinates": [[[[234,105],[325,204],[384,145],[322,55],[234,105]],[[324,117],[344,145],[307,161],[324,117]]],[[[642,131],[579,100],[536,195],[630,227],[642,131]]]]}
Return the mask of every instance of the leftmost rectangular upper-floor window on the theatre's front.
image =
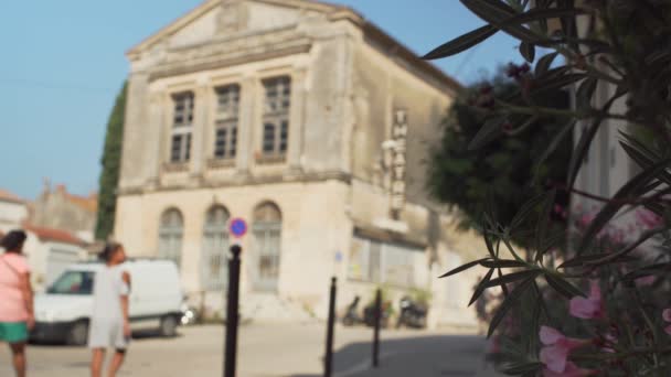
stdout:
{"type": "Polygon", "coordinates": [[[193,93],[185,91],[172,96],[173,117],[170,147],[170,162],[183,163],[191,159],[191,130],[193,126],[193,93]]]}

